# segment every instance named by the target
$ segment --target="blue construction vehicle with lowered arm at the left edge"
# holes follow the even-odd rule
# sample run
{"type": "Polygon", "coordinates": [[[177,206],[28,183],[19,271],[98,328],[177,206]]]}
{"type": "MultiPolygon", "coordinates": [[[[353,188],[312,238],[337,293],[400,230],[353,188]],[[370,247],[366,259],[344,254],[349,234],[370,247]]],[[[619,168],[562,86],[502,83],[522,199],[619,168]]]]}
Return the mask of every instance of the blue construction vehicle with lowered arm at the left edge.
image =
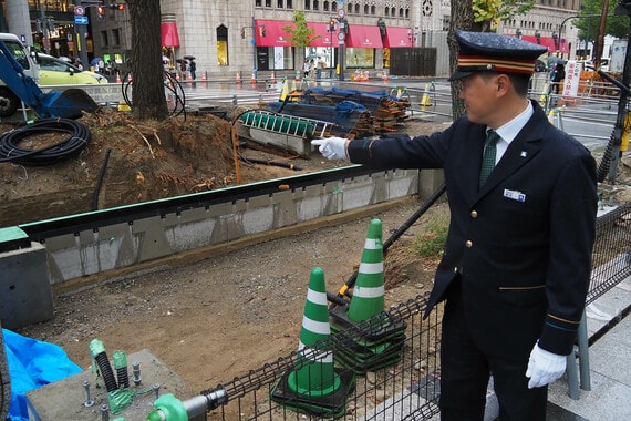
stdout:
{"type": "Polygon", "coordinates": [[[0,34],[0,117],[8,117],[23,103],[40,119],[76,119],[99,105],[81,89],[52,90],[44,93],[33,79],[37,64],[18,37],[0,34]],[[29,74],[30,73],[30,74],[29,74]]]}

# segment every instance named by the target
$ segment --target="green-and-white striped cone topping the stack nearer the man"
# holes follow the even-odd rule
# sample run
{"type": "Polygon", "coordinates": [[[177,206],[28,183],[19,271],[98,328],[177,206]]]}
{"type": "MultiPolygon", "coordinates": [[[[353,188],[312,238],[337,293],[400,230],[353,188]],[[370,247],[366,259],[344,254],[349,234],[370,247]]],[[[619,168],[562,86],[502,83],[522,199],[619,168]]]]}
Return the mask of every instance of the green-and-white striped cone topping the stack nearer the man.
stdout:
{"type": "Polygon", "coordinates": [[[354,322],[381,314],[385,307],[381,219],[372,219],[346,316],[354,322]]]}

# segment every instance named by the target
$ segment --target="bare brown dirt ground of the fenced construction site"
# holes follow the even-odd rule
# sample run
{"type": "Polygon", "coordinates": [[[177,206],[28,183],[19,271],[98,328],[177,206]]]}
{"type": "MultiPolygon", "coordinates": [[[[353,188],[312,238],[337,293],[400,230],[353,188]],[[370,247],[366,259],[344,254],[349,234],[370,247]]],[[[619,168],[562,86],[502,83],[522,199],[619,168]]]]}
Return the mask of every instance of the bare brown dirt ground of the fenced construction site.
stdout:
{"type": "MultiPolygon", "coordinates": [[[[0,202],[4,204],[0,226],[91,210],[108,148],[99,208],[236,183],[230,125],[225,120],[189,115],[186,122],[179,119],[139,125],[105,113],[82,121],[93,137],[79,156],[46,167],[0,166],[0,202]]],[[[428,133],[442,127],[441,123],[418,120],[406,122],[402,130],[428,133]]],[[[32,142],[38,145],[55,140],[32,142]]],[[[289,162],[302,172],[343,165],[318,154],[306,160],[251,148],[242,152],[250,157],[289,162]]],[[[628,172],[629,163],[621,167],[628,172]]],[[[279,166],[240,165],[241,183],[296,174],[279,166]]],[[[629,183],[631,177],[625,179],[629,183]]],[[[621,197],[618,192],[609,194],[621,197]]],[[[344,220],[332,218],[330,226],[316,232],[219,250],[214,257],[184,266],[174,259],[134,276],[113,274],[108,283],[97,287],[56,294],[54,319],[18,332],[60,345],[84,369],[91,362],[89,343],[94,338],[103,340],[108,352],[148,349],[193,390],[209,389],[294,351],[310,271],[322,267],[327,289],[337,291],[361,260],[371,218],[382,219],[386,239],[417,207],[417,199],[408,198],[344,220]]],[[[434,213],[446,212],[445,204],[436,206],[389,249],[386,307],[431,288],[436,261],[420,260],[412,244],[434,213]]]]}

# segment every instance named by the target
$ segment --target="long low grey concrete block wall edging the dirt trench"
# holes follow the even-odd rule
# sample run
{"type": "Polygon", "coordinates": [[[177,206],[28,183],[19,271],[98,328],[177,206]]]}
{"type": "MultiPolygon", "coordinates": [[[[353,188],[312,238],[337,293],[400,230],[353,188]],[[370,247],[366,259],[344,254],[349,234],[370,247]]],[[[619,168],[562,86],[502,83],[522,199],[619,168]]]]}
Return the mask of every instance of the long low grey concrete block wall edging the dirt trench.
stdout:
{"type": "Polygon", "coordinates": [[[389,171],[45,240],[51,285],[417,194],[417,171],[389,171]]]}

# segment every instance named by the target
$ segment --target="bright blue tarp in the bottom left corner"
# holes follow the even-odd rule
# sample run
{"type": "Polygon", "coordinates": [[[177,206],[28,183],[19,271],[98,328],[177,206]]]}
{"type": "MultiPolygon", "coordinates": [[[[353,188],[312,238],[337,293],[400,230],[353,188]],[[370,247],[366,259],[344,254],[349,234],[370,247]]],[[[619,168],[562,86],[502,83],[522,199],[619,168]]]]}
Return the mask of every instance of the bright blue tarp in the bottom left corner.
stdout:
{"type": "Polygon", "coordinates": [[[7,329],[2,329],[2,335],[11,378],[9,419],[28,421],[27,392],[82,370],[60,346],[27,338],[7,329]]]}

